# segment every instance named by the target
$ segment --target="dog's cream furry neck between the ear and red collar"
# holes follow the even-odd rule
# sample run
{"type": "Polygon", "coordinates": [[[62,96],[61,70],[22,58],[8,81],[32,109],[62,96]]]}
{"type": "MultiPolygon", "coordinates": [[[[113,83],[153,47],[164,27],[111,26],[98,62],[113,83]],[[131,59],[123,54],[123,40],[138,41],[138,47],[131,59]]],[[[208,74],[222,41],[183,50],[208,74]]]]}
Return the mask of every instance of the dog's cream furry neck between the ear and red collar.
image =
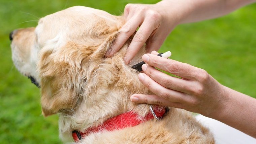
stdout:
{"type": "Polygon", "coordinates": [[[123,62],[125,51],[123,48],[113,57],[104,59],[101,67],[94,71],[91,79],[87,80],[83,99],[75,110],[75,115],[67,117],[60,114],[61,133],[84,131],[128,111],[133,111],[140,117],[149,113],[149,105],[130,101],[130,96],[134,93],[151,94],[138,80],[138,72],[131,69],[134,63],[141,61],[145,49],[142,48],[128,66],[123,62]]]}

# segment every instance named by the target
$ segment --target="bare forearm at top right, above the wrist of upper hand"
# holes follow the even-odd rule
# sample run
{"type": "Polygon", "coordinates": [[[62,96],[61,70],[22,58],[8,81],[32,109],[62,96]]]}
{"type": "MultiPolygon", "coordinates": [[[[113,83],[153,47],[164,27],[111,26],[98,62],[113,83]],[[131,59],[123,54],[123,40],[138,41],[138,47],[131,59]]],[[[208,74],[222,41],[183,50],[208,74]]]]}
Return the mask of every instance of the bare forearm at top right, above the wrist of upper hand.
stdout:
{"type": "MultiPolygon", "coordinates": [[[[165,14],[175,15],[179,23],[195,22],[225,15],[256,0],[163,0],[157,3],[165,14]]],[[[173,18],[173,17],[172,17],[173,18]]]]}

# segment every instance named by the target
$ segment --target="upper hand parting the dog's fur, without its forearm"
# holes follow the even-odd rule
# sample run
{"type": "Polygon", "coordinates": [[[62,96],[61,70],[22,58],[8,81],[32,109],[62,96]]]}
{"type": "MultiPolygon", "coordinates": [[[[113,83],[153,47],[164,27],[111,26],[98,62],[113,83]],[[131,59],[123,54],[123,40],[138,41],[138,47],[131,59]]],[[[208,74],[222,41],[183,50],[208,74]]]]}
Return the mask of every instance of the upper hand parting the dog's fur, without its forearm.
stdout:
{"type": "Polygon", "coordinates": [[[164,10],[166,6],[168,5],[164,5],[163,1],[152,5],[127,4],[124,9],[127,22],[120,29],[120,34],[105,56],[113,56],[138,27],[124,56],[124,62],[128,64],[144,43],[148,53],[158,50],[177,23],[174,15],[167,14],[164,10]]]}

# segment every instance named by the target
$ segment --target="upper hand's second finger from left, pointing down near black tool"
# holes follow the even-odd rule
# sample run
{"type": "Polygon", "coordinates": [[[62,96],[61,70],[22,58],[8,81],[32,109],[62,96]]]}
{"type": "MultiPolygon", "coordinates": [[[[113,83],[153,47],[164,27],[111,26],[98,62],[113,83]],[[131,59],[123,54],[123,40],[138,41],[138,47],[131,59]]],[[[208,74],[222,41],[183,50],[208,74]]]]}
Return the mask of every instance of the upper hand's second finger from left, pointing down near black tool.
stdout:
{"type": "Polygon", "coordinates": [[[146,19],[141,24],[125,53],[124,62],[126,64],[129,63],[132,60],[132,58],[138,53],[139,49],[144,45],[144,43],[147,41],[147,39],[149,38],[150,34],[153,32],[154,29],[156,29],[156,24],[152,23],[148,19],[146,19]]]}

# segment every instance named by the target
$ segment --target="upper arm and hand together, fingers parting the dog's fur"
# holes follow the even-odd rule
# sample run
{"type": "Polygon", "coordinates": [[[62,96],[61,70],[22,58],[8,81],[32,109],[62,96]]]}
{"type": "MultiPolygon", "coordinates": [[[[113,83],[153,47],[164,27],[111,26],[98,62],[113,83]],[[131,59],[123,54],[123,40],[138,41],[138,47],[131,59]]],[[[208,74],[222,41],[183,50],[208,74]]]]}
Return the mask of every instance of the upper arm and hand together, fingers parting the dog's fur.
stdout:
{"type": "Polygon", "coordinates": [[[162,0],[156,4],[127,4],[124,9],[126,23],[120,29],[111,51],[115,54],[138,31],[124,56],[129,63],[141,46],[146,43],[147,52],[158,50],[171,30],[180,23],[195,22],[218,17],[255,0],[162,0]]]}

